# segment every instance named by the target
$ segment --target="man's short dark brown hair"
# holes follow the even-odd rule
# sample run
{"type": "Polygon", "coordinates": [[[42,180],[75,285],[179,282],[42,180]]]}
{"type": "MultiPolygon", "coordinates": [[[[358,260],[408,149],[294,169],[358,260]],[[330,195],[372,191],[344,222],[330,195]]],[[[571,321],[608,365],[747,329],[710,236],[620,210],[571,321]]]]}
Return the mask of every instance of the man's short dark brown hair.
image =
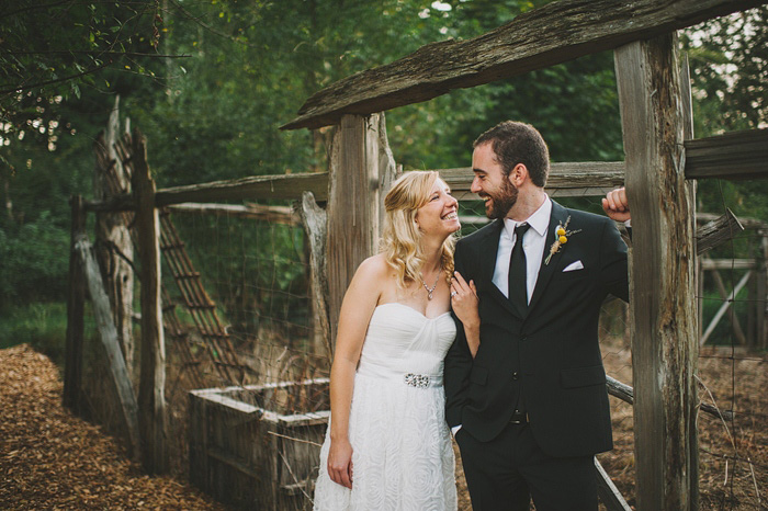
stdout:
{"type": "Polygon", "coordinates": [[[516,164],[528,169],[533,184],[544,188],[550,174],[550,150],[539,130],[526,123],[504,121],[492,127],[472,145],[473,148],[490,143],[505,175],[516,164]]]}

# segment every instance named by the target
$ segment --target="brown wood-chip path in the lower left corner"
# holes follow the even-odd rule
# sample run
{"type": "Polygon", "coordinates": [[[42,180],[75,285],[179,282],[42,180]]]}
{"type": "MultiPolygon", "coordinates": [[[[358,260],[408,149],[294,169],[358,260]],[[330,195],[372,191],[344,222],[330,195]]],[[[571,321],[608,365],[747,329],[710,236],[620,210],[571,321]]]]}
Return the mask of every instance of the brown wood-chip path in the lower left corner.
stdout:
{"type": "Polygon", "coordinates": [[[225,510],[170,477],[149,477],[118,443],[61,406],[48,357],[0,350],[0,509],[225,510]]]}

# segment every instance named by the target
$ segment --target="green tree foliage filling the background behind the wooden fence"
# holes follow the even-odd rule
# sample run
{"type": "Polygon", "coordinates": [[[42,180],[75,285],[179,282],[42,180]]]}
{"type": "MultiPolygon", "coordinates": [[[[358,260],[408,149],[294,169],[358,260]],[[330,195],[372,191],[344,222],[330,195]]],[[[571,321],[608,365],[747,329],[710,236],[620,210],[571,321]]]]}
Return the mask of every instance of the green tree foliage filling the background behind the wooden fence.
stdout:
{"type": "MultiPolygon", "coordinates": [[[[64,299],[68,198],[92,195],[92,144],[115,94],[123,118],[147,136],[159,188],[321,171],[328,129],[279,129],[313,93],[425,44],[481,35],[546,0],[12,3],[0,14],[3,311],[64,299]]],[[[765,127],[767,9],[685,33],[697,137],[765,127]]],[[[477,135],[507,118],[537,126],[554,161],[623,159],[612,54],[396,109],[387,133],[406,169],[465,167],[477,135]]],[[[727,206],[768,219],[767,196],[766,181],[698,186],[699,211],[710,213],[727,206]]],[[[280,229],[212,220],[182,232],[203,274],[219,275],[206,284],[230,297],[231,322],[252,328],[241,311],[285,315],[306,295],[303,241],[280,229]]],[[[749,239],[719,253],[752,253],[749,239]]]]}

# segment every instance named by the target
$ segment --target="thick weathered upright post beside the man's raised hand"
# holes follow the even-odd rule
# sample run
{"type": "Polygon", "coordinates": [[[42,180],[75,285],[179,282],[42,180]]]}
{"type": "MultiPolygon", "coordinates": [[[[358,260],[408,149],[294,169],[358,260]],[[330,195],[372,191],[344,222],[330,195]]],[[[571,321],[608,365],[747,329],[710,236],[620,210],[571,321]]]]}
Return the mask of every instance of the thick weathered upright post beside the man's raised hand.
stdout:
{"type": "Polygon", "coordinates": [[[698,502],[694,194],[675,34],[622,46],[617,82],[632,205],[630,311],[637,509],[698,502]],[[664,269],[659,271],[658,269],[664,269]]]}

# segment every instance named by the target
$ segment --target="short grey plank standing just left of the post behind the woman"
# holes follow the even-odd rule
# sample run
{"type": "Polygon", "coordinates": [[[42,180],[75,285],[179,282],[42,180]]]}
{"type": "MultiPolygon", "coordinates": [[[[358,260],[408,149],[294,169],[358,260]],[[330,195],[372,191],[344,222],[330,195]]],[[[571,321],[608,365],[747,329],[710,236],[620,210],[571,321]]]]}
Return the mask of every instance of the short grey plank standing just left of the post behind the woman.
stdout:
{"type": "Polygon", "coordinates": [[[328,320],[328,269],[326,263],[326,238],[328,215],[317,205],[312,192],[304,192],[298,214],[309,243],[309,287],[315,323],[315,352],[325,353],[328,366],[334,357],[334,348],[328,320]]]}

